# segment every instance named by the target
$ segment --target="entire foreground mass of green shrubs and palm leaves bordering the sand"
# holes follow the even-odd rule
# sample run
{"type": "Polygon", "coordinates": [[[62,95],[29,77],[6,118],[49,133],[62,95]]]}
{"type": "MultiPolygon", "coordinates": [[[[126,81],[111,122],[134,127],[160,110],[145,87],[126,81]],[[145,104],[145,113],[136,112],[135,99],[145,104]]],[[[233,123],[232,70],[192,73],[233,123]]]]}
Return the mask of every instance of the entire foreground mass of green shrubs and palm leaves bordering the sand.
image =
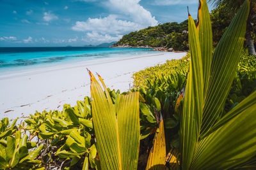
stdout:
{"type": "Polygon", "coordinates": [[[189,53],[134,73],[129,92],[91,97],[0,122],[0,169],[230,169],[255,167],[256,56],[243,50],[246,0],[212,53],[210,15],[189,15],[189,53]]]}

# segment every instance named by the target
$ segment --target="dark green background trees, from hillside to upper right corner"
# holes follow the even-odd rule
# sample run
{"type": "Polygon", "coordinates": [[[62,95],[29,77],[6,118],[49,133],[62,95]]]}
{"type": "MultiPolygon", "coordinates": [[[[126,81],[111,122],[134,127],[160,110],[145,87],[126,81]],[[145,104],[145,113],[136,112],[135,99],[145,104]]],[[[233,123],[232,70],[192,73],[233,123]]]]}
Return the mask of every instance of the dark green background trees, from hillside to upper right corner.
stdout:
{"type": "MultiPolygon", "coordinates": [[[[232,21],[237,10],[240,8],[243,1],[226,0],[209,0],[209,2],[216,4],[214,10],[211,11],[211,25],[212,25],[212,44],[217,46],[228,25],[232,21]]],[[[256,7],[255,2],[250,4],[250,15],[247,22],[246,29],[246,43],[250,46],[250,55],[255,55],[253,49],[256,45],[256,7]]],[[[196,20],[195,20],[196,22],[196,20]]],[[[159,24],[156,27],[147,27],[140,31],[130,32],[123,36],[114,46],[150,46],[163,47],[166,49],[173,48],[176,51],[189,50],[188,42],[188,20],[184,22],[171,22],[166,24],[159,24]]]]}

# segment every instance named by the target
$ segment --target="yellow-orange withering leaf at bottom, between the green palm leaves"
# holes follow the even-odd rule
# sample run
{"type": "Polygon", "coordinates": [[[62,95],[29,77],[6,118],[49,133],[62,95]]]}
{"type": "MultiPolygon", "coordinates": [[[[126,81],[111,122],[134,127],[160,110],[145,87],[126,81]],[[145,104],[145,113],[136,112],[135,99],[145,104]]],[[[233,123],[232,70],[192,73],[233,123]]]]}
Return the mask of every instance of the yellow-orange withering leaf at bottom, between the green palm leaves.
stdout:
{"type": "Polygon", "coordinates": [[[164,121],[160,122],[159,129],[154,138],[154,146],[151,148],[146,169],[164,169],[166,146],[164,137],[164,121]]]}

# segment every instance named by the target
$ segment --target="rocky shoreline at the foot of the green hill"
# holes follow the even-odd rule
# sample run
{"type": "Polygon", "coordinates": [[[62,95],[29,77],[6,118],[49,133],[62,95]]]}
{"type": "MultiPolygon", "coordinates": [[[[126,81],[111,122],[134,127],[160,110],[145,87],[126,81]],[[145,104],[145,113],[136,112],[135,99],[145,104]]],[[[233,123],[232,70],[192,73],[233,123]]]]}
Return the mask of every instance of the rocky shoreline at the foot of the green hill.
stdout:
{"type": "Polygon", "coordinates": [[[152,46],[131,46],[131,45],[111,45],[109,48],[146,48],[146,49],[152,49],[151,51],[159,51],[159,52],[174,52],[174,53],[184,53],[188,51],[175,51],[173,48],[164,48],[162,46],[160,47],[152,47],[152,46]]]}

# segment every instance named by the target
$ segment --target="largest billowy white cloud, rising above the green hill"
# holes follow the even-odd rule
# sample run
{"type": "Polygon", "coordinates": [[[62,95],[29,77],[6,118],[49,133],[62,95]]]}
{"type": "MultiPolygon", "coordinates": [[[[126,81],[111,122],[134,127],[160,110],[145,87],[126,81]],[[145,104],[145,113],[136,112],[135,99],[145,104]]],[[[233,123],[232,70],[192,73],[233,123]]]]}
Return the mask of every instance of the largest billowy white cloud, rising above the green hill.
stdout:
{"type": "Polygon", "coordinates": [[[77,21],[72,30],[85,32],[83,41],[97,43],[118,41],[123,34],[157,25],[156,18],[139,2],[140,0],[108,0],[104,4],[113,14],[77,21]]]}

